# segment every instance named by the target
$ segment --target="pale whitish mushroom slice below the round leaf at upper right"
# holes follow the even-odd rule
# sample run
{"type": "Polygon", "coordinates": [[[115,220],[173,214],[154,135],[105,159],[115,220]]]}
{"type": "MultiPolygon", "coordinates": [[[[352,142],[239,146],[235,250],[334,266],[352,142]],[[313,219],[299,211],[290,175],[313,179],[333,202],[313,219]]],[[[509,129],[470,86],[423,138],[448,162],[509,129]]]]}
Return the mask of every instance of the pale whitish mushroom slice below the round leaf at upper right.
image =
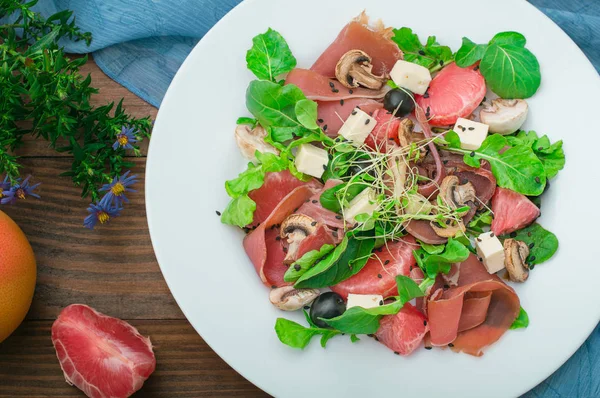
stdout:
{"type": "Polygon", "coordinates": [[[490,126],[490,133],[511,134],[525,123],[528,111],[525,100],[498,98],[491,104],[485,104],[479,112],[479,119],[490,126]]]}

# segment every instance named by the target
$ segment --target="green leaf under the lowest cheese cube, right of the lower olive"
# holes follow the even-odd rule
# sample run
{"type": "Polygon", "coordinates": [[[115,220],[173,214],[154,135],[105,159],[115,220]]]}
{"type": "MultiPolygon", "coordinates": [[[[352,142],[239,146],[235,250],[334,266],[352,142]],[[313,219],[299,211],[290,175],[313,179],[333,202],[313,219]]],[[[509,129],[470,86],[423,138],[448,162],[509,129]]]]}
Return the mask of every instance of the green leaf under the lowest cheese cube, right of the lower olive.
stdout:
{"type": "Polygon", "coordinates": [[[412,279],[399,275],[396,277],[399,297],[390,304],[374,308],[352,307],[342,315],[323,319],[329,326],[351,334],[373,334],[379,329],[379,322],[384,315],[397,314],[405,303],[416,297],[423,297],[424,293],[412,279]]]}

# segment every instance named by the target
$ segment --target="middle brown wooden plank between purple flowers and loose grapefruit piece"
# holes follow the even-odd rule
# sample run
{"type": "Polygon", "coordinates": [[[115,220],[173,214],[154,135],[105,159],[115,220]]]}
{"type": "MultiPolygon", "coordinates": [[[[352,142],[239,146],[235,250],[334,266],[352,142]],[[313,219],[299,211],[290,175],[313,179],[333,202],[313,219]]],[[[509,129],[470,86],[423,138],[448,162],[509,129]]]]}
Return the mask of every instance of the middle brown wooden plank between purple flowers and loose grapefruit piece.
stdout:
{"type": "Polygon", "coordinates": [[[68,158],[23,159],[25,173],[41,182],[41,199],[3,206],[36,253],[38,283],[28,319],[54,319],[66,305],[83,303],[121,319],[184,319],[156,262],[140,182],[122,216],[94,231],[83,228],[89,201],[70,178],[68,158]]]}

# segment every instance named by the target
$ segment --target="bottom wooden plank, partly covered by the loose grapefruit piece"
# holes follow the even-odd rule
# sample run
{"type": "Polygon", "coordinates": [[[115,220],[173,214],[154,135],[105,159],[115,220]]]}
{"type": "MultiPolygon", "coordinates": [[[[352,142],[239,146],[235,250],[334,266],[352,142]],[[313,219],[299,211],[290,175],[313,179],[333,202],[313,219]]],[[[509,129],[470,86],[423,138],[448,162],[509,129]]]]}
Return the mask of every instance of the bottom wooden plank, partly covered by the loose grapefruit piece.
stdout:
{"type": "MultiPolygon", "coordinates": [[[[185,320],[131,321],[150,336],[154,374],[136,397],[265,397],[229,367],[185,320]]],[[[0,343],[0,396],[81,397],[63,377],[52,346],[51,321],[26,321],[0,343]]]]}

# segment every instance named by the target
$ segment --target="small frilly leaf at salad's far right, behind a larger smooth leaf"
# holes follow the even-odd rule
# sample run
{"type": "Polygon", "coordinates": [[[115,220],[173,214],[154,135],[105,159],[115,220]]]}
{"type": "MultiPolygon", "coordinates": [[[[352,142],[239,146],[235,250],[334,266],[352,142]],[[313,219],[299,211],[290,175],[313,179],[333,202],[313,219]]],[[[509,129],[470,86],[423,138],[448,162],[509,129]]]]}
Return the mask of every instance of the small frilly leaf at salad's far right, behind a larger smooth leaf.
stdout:
{"type": "Polygon", "coordinates": [[[562,140],[550,142],[547,135],[538,138],[535,131],[519,131],[516,135],[506,137],[511,145],[525,145],[533,150],[546,170],[546,177],[552,178],[565,167],[565,152],[562,140]]]}

